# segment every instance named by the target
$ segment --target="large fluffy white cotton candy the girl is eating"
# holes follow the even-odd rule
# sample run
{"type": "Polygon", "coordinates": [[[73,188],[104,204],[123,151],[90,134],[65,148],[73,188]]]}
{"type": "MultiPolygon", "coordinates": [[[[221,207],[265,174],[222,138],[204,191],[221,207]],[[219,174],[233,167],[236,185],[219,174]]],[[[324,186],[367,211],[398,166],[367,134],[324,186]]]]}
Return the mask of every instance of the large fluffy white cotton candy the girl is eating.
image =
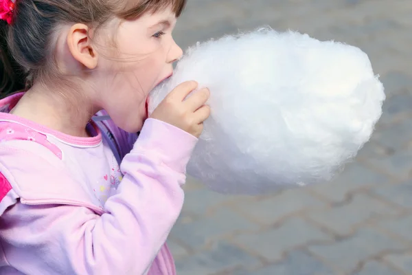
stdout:
{"type": "Polygon", "coordinates": [[[357,47],[271,28],[188,49],[149,113],[186,80],[211,91],[187,173],[232,194],[330,180],[369,140],[385,100],[357,47]]]}

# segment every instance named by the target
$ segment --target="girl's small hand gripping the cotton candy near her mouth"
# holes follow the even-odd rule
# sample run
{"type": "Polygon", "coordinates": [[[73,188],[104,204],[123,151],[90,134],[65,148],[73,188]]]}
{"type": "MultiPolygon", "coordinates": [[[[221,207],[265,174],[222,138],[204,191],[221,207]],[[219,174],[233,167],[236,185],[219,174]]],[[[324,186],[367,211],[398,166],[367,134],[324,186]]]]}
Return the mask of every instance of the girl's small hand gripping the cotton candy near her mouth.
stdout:
{"type": "Polygon", "coordinates": [[[200,137],[203,122],[210,115],[210,108],[205,105],[210,92],[209,89],[204,88],[186,98],[197,87],[198,83],[195,81],[181,83],[163,99],[150,118],[162,120],[195,137],[200,137]]]}

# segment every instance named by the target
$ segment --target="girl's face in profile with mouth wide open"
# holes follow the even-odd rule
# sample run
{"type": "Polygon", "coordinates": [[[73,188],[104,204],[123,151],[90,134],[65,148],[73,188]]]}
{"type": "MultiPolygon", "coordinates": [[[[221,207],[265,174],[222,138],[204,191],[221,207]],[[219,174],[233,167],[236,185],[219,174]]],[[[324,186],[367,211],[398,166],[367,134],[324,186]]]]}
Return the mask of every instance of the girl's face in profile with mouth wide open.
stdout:
{"type": "Polygon", "coordinates": [[[125,131],[140,131],[148,94],[172,75],[172,64],[183,54],[172,38],[175,24],[171,8],[124,21],[115,32],[116,57],[99,58],[96,104],[125,131]]]}

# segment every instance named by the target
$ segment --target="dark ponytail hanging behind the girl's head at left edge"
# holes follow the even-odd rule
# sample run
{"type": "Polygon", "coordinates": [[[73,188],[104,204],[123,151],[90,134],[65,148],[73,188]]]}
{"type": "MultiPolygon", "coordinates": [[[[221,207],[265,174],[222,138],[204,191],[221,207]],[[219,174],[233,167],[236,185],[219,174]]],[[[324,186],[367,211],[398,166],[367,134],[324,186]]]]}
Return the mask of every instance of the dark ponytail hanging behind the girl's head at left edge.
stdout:
{"type": "Polygon", "coordinates": [[[0,20],[0,98],[25,89],[23,69],[16,63],[8,48],[8,25],[0,20]]]}

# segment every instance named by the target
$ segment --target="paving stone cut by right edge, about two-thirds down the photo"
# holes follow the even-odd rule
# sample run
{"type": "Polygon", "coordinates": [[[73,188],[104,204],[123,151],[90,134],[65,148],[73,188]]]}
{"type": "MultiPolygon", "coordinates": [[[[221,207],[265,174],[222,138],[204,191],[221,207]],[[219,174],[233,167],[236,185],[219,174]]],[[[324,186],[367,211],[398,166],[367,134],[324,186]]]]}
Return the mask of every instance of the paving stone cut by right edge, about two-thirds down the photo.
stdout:
{"type": "Polygon", "coordinates": [[[398,206],[412,208],[412,181],[379,186],[374,188],[373,192],[398,206]]]}

